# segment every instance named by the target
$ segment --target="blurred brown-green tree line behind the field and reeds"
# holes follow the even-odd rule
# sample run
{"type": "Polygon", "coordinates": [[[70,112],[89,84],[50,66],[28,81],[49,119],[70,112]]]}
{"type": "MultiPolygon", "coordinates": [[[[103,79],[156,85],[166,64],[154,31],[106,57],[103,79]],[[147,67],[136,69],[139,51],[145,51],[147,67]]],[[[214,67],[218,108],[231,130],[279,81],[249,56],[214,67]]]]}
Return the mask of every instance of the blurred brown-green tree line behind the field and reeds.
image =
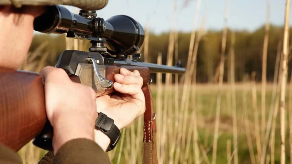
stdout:
{"type": "MultiPolygon", "coordinates": [[[[252,71],[256,72],[256,79],[260,81],[262,74],[262,49],[265,34],[265,27],[262,26],[255,31],[245,30],[235,31],[235,80],[240,82],[244,77],[249,77],[252,71]]],[[[229,50],[231,46],[231,30],[227,32],[227,44],[225,54],[224,81],[228,77],[229,50]]],[[[197,57],[197,82],[211,83],[214,81],[216,71],[220,62],[222,30],[208,30],[199,42],[197,57]]],[[[267,57],[267,81],[273,81],[276,54],[278,47],[282,49],[283,27],[271,26],[269,31],[268,57],[267,57]]],[[[291,38],[291,37],[290,37],[291,38]]],[[[178,54],[182,66],[186,67],[189,50],[190,32],[178,32],[178,54]]],[[[71,39],[73,41],[73,39],[71,39]]],[[[47,46],[45,51],[50,53],[46,65],[55,65],[59,55],[66,47],[65,35],[36,34],[33,38],[30,51],[35,51],[41,44],[47,46]]],[[[291,42],[290,42],[291,43],[291,42]]],[[[162,53],[162,63],[166,64],[167,48],[169,44],[169,33],[149,35],[149,60],[151,63],[157,62],[158,53],[162,53]]],[[[84,50],[88,51],[89,42],[85,42],[84,50]]],[[[290,46],[291,51],[291,46],[290,46]]],[[[141,49],[143,52],[143,48],[141,49]]],[[[36,59],[37,60],[37,59],[36,59]]],[[[291,76],[291,55],[289,55],[288,79],[291,76]]],[[[177,61],[174,61],[174,65],[177,61]]],[[[155,77],[154,77],[155,78],[155,77]]],[[[155,80],[155,79],[154,79],[155,80]]]]}

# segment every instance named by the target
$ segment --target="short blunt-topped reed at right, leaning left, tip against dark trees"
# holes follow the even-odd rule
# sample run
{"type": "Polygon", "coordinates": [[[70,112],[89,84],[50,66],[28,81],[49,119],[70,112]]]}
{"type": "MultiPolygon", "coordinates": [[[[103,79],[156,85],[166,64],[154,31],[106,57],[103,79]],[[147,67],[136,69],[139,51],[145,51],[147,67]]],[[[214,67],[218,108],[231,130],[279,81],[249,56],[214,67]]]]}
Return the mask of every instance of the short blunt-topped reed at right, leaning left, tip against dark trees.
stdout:
{"type": "Polygon", "coordinates": [[[261,137],[259,129],[259,113],[257,108],[257,97],[256,97],[256,84],[255,84],[255,72],[252,72],[252,108],[254,111],[254,121],[255,121],[255,142],[257,149],[257,158],[260,160],[262,155],[261,137]]]}

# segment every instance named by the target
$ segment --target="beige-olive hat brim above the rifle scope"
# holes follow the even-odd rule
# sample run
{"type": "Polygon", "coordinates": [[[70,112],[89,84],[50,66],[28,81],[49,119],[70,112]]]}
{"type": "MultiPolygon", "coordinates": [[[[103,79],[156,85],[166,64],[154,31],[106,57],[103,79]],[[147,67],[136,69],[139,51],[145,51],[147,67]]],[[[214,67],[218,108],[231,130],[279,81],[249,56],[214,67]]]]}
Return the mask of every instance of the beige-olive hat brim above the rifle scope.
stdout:
{"type": "Polygon", "coordinates": [[[22,5],[70,5],[84,10],[100,10],[107,3],[108,0],[0,0],[0,5],[14,5],[17,8],[22,5]]]}

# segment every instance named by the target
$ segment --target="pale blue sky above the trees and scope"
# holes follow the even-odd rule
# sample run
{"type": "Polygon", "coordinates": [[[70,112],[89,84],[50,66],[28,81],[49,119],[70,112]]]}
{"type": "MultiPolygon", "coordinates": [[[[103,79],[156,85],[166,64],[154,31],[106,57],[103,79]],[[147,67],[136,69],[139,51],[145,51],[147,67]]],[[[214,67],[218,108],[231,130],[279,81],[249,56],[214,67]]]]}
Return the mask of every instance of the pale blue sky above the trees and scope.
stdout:
{"type": "MultiPolygon", "coordinates": [[[[174,21],[174,0],[109,0],[108,5],[97,12],[98,17],[107,19],[113,15],[129,15],[141,25],[150,23],[155,33],[169,31],[176,22],[179,31],[191,31],[197,0],[176,0],[177,19],[174,21]],[[183,9],[182,9],[183,8],[183,9]]],[[[72,7],[68,7],[72,12],[72,7]]],[[[77,10],[78,11],[78,10],[77,10]]],[[[202,0],[197,27],[206,15],[205,29],[222,29],[225,0],[202,0]]],[[[270,22],[283,25],[285,0],[270,0],[270,22]]],[[[266,22],[266,0],[230,0],[228,27],[233,29],[254,30],[266,22]]],[[[290,25],[292,15],[290,14],[290,25]]]]}

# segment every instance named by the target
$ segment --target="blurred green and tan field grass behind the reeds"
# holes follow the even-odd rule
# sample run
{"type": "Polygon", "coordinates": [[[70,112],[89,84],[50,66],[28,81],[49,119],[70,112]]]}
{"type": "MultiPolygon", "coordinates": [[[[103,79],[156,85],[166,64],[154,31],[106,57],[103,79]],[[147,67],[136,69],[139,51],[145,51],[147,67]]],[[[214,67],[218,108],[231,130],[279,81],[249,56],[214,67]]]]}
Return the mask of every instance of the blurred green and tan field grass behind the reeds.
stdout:
{"type": "MultiPolygon", "coordinates": [[[[189,109],[188,109],[188,116],[186,117],[187,119],[187,124],[183,125],[186,126],[187,129],[193,128],[188,126],[189,123],[192,121],[192,116],[191,116],[191,110],[193,108],[193,104],[196,104],[196,111],[197,111],[197,126],[198,126],[198,134],[199,134],[199,145],[203,145],[205,142],[207,145],[205,145],[204,149],[207,153],[208,159],[211,161],[212,159],[212,143],[213,143],[213,132],[214,132],[214,123],[215,123],[215,105],[216,103],[216,97],[217,97],[217,85],[207,85],[207,84],[197,84],[196,85],[196,103],[193,101],[189,101],[189,109]],[[213,103],[213,104],[212,104],[213,103]],[[206,134],[206,129],[210,129],[210,133],[206,134]],[[208,136],[206,136],[208,135],[208,136]],[[206,141],[205,141],[206,140],[206,141]]],[[[247,145],[247,139],[245,135],[245,126],[243,122],[243,108],[246,106],[247,109],[247,114],[249,118],[249,125],[250,125],[250,131],[251,131],[251,137],[252,137],[252,145],[253,145],[253,150],[255,152],[255,156],[257,153],[256,149],[256,144],[255,144],[255,128],[254,128],[254,119],[253,119],[253,110],[252,110],[252,96],[251,96],[251,84],[246,83],[246,84],[236,84],[236,110],[237,110],[237,129],[238,129],[238,163],[241,164],[248,164],[251,163],[250,155],[249,155],[249,149],[247,145]],[[243,91],[247,92],[247,97],[246,97],[246,102],[242,102],[242,96],[243,96],[243,91]]],[[[172,90],[174,86],[169,87],[169,90],[172,90]]],[[[182,92],[182,86],[179,86],[179,92],[182,92]]],[[[163,110],[162,109],[157,109],[156,108],[156,96],[157,96],[157,87],[153,84],[151,85],[152,89],[152,94],[153,94],[153,101],[154,101],[154,106],[155,110],[163,110]]],[[[233,139],[233,132],[232,132],[232,113],[230,109],[228,109],[228,99],[227,99],[227,92],[230,90],[229,85],[223,85],[223,92],[222,92],[222,101],[221,101],[221,115],[220,115],[220,126],[219,126],[219,138],[218,138],[218,145],[217,145],[217,164],[225,164],[228,163],[227,159],[227,142],[228,140],[231,141],[233,139]]],[[[258,105],[258,110],[260,110],[260,98],[261,98],[261,84],[256,84],[256,89],[257,89],[257,105],[258,105]]],[[[288,91],[287,91],[288,92],[288,91]]],[[[162,93],[165,93],[165,89],[163,88],[162,93]]],[[[272,85],[267,84],[267,91],[266,91],[266,107],[269,107],[271,104],[271,94],[272,94],[272,85]]],[[[180,94],[179,94],[180,95],[180,94]]],[[[174,95],[172,94],[172,97],[174,95]]],[[[181,96],[179,96],[179,102],[180,102],[181,96]]],[[[174,101],[172,102],[174,105],[174,101]]],[[[163,104],[163,102],[162,102],[163,104]]],[[[267,108],[268,110],[269,108],[267,108]]],[[[174,108],[170,108],[170,110],[174,110],[174,108]]],[[[161,112],[162,113],[162,112],[161,112]]],[[[169,113],[169,112],[168,112],[169,113]]],[[[268,112],[266,112],[268,114],[268,112]]],[[[174,151],[174,154],[170,153],[170,134],[171,132],[174,132],[174,123],[176,119],[179,119],[181,116],[181,113],[178,115],[172,114],[171,117],[168,115],[167,117],[167,122],[162,122],[162,124],[167,124],[166,128],[166,137],[165,137],[165,143],[166,143],[166,158],[164,159],[163,163],[169,163],[170,157],[173,155],[176,155],[176,151],[174,151]]],[[[141,119],[141,118],[140,118],[141,119]]],[[[266,115],[266,120],[268,120],[268,115],[266,115]]],[[[142,148],[142,138],[138,138],[140,141],[136,142],[135,140],[131,140],[131,138],[134,135],[134,138],[137,139],[138,136],[142,136],[141,132],[140,134],[137,134],[138,132],[138,127],[137,127],[138,121],[135,121],[135,123],[128,128],[126,128],[123,132],[126,133],[124,137],[124,143],[123,143],[123,149],[120,152],[120,145],[121,142],[117,145],[116,152],[109,152],[109,156],[112,159],[113,163],[118,162],[118,156],[120,154],[120,164],[126,164],[126,163],[142,163],[142,149],[138,149],[137,147],[142,148]],[[136,151],[132,151],[132,149],[135,149],[136,151]],[[133,154],[134,153],[134,154],[133,154]],[[134,159],[135,158],[135,159],[134,159]],[[136,161],[136,162],[134,162],[136,161]]],[[[157,122],[158,124],[161,123],[160,121],[157,122]]],[[[162,125],[158,125],[158,127],[162,127],[162,125]]],[[[142,128],[142,127],[139,127],[142,128]]],[[[288,126],[287,126],[287,131],[288,131],[288,126]]],[[[188,130],[187,130],[188,132],[188,130]]],[[[161,133],[161,129],[158,129],[158,133],[161,133]]],[[[192,133],[193,134],[193,133],[192,133]]],[[[289,141],[289,133],[286,133],[286,139],[289,141]]],[[[187,136],[187,135],[185,135],[187,136]]],[[[161,138],[157,138],[160,140],[161,143],[161,138]]],[[[187,142],[187,138],[185,138],[185,141],[187,142]]],[[[178,144],[180,141],[176,141],[175,144],[178,144]]],[[[194,155],[194,150],[193,150],[193,141],[191,140],[189,142],[190,145],[186,145],[190,147],[189,154],[187,156],[187,160],[180,159],[179,163],[194,163],[193,161],[193,155],[194,155]]],[[[158,145],[158,150],[159,150],[158,145]]],[[[180,152],[185,152],[185,147],[180,148],[180,152]]],[[[231,144],[231,154],[234,150],[234,146],[231,144]]],[[[289,142],[286,142],[286,159],[290,159],[289,153],[290,152],[290,146],[289,142]]],[[[44,155],[45,151],[37,149],[33,147],[30,144],[28,144],[26,147],[24,147],[19,154],[21,155],[21,158],[25,163],[36,163],[38,159],[40,159],[44,155]]],[[[270,146],[268,146],[267,150],[267,155],[270,155],[270,146]]],[[[180,153],[180,156],[185,156],[184,153],[180,153]]],[[[259,159],[257,159],[258,161],[259,159]]],[[[200,152],[200,161],[202,163],[206,163],[205,160],[203,160],[203,155],[202,151],[200,152]]],[[[258,163],[258,162],[257,162],[258,163]]],[[[280,117],[278,114],[278,118],[276,121],[276,135],[275,135],[275,163],[280,163],[280,117]]],[[[286,161],[286,163],[290,163],[289,160],[286,161]]]]}

